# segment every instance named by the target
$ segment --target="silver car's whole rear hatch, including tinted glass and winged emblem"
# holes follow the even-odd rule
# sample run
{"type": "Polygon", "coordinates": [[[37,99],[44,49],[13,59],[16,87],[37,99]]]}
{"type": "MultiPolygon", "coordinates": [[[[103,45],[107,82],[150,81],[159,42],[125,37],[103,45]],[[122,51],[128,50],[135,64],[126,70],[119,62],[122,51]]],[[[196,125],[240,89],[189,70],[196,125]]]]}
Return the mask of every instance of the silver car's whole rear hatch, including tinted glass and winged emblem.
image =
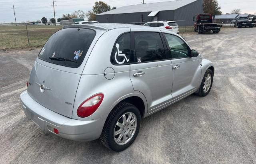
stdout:
{"type": "Polygon", "coordinates": [[[72,117],[82,64],[96,32],[85,28],[64,28],[44,45],[31,73],[28,93],[40,105],[72,117]],[[42,64],[46,63],[46,64],[42,64]],[[58,67],[54,67],[58,65],[58,67]],[[56,69],[58,68],[58,69],[56,69]],[[74,69],[73,72],[66,70],[74,69]]]}

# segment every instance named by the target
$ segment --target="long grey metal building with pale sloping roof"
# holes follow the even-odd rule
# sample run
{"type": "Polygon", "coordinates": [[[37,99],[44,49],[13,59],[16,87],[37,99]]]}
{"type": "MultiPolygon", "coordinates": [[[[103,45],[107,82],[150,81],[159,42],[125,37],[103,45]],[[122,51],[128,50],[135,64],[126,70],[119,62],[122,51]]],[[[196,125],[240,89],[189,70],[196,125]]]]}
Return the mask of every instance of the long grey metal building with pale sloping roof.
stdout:
{"type": "Polygon", "coordinates": [[[100,23],[135,23],[176,20],[180,26],[192,25],[193,16],[203,13],[202,0],[174,0],[122,6],[96,15],[100,23]]]}

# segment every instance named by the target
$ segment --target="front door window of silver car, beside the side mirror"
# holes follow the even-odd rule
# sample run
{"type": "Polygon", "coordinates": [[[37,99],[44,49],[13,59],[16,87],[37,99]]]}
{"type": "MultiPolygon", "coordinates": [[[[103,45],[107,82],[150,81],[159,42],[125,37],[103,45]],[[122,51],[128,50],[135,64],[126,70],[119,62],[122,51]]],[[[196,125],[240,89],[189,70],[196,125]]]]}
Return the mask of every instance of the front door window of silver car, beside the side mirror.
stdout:
{"type": "Polygon", "coordinates": [[[170,47],[172,59],[189,57],[188,45],[182,39],[171,34],[164,35],[170,47]]]}

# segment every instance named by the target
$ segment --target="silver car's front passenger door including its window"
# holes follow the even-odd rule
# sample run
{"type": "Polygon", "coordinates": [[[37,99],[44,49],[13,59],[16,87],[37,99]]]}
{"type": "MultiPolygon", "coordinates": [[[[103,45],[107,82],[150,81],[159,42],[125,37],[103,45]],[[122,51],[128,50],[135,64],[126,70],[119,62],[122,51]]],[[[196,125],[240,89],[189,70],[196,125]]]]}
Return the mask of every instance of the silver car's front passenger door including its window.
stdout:
{"type": "Polygon", "coordinates": [[[172,101],[176,101],[198,89],[201,77],[200,57],[190,57],[191,49],[182,38],[172,34],[164,36],[173,69],[172,101]]]}

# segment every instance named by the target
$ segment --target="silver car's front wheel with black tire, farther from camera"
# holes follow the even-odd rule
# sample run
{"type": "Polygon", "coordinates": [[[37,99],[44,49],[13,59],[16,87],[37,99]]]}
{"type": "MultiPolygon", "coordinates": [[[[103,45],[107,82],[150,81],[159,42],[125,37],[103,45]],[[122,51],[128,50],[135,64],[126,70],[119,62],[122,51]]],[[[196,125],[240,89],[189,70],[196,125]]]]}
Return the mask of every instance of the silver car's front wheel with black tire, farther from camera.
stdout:
{"type": "Polygon", "coordinates": [[[203,77],[203,80],[202,80],[202,83],[200,85],[200,88],[199,88],[199,91],[198,91],[197,95],[199,95],[201,97],[204,97],[204,96],[208,95],[208,93],[210,92],[210,90],[212,88],[212,82],[213,82],[212,70],[207,69],[207,71],[204,73],[204,77],[203,77]],[[211,77],[210,81],[208,79],[209,75],[211,77]],[[210,83],[210,85],[209,85],[209,83],[210,83]]]}

